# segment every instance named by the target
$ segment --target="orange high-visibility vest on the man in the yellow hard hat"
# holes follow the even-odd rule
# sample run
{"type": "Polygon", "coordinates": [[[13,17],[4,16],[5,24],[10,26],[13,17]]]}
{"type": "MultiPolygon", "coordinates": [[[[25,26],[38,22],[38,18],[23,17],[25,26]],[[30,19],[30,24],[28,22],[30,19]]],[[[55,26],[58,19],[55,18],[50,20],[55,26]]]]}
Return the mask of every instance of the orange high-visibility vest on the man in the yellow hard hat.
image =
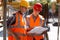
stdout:
{"type": "MultiPolygon", "coordinates": [[[[9,29],[17,35],[19,40],[27,40],[26,29],[24,29],[25,22],[23,21],[22,15],[20,13],[16,13],[16,22],[9,29]],[[19,17],[19,18],[18,18],[19,17]],[[19,23],[19,24],[18,24],[19,23]],[[19,26],[18,26],[19,25],[19,26]]],[[[8,40],[16,40],[14,36],[8,32],[8,40]]]]}

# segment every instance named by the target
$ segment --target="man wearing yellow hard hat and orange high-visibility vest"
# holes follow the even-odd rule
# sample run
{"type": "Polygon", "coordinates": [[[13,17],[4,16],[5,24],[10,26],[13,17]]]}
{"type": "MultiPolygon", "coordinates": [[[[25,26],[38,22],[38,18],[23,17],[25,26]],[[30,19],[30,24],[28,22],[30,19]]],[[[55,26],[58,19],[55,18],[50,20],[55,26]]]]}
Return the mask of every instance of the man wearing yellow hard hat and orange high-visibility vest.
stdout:
{"type": "Polygon", "coordinates": [[[27,40],[25,29],[25,13],[29,7],[27,1],[20,2],[20,11],[13,14],[7,21],[8,40],[27,40]]]}

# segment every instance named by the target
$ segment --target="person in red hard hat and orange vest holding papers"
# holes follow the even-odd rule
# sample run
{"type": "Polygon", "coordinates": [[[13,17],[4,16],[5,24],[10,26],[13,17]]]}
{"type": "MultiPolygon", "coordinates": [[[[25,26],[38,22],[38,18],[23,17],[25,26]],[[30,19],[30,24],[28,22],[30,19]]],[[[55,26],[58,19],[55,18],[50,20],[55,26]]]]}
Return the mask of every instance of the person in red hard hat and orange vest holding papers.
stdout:
{"type": "MultiPolygon", "coordinates": [[[[27,23],[27,26],[29,27],[27,30],[31,30],[33,29],[34,27],[42,27],[43,24],[44,24],[44,18],[42,15],[39,15],[39,13],[42,11],[42,5],[40,3],[36,3],[34,4],[33,6],[33,12],[32,14],[28,15],[26,17],[26,23],[27,23]]],[[[28,36],[27,39],[30,39],[30,40],[44,40],[44,37],[43,35],[40,35],[40,36],[28,36]]]]}

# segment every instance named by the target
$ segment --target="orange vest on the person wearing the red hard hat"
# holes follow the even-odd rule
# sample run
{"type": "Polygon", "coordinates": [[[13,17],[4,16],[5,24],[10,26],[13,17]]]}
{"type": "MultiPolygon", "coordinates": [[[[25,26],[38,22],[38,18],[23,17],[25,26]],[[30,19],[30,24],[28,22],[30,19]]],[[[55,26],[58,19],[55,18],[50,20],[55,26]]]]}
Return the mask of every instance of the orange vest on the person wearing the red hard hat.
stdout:
{"type": "MultiPolygon", "coordinates": [[[[36,26],[40,26],[41,25],[41,21],[43,21],[44,20],[44,18],[41,16],[41,15],[39,15],[37,18],[36,18],[36,20],[34,21],[34,19],[33,19],[33,17],[32,17],[32,15],[28,15],[27,16],[27,21],[29,22],[28,24],[29,24],[29,28],[34,28],[34,27],[36,27],[36,26]]],[[[31,39],[32,37],[28,37],[29,39],[31,39]]],[[[34,38],[35,38],[35,40],[41,40],[41,39],[43,39],[44,37],[43,37],[43,35],[40,35],[40,36],[34,36],[34,38]]]]}

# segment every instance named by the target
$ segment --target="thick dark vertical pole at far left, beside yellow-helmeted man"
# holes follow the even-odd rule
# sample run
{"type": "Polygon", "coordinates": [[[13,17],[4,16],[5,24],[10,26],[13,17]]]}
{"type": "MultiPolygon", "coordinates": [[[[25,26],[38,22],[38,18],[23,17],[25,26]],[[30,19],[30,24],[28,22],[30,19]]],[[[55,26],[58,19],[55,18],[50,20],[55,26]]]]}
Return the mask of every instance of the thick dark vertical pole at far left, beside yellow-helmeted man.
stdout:
{"type": "Polygon", "coordinates": [[[3,40],[6,40],[6,27],[7,27],[7,23],[6,23],[6,3],[7,0],[3,0],[3,40]]]}

